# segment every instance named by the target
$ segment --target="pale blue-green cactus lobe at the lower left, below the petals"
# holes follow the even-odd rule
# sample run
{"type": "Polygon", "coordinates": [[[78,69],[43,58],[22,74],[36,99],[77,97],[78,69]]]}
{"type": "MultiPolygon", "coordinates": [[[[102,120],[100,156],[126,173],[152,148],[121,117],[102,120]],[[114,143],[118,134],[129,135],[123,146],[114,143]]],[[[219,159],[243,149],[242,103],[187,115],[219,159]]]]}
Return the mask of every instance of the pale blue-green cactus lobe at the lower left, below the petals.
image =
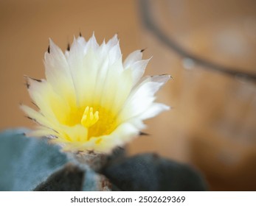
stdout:
{"type": "Polygon", "coordinates": [[[0,191],[32,191],[67,162],[59,148],[27,138],[26,129],[6,130],[0,136],[0,191]]]}

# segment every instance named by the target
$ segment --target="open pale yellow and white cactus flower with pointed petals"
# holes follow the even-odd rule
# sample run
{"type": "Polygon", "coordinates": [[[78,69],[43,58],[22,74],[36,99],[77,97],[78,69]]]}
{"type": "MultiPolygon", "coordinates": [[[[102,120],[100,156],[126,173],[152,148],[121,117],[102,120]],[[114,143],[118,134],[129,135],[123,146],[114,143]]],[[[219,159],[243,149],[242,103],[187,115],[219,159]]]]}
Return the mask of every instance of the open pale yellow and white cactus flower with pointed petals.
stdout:
{"type": "Polygon", "coordinates": [[[100,46],[94,35],[88,42],[75,38],[64,54],[50,40],[46,79],[27,77],[38,107],[21,105],[38,123],[27,135],[50,138],[69,152],[109,153],[131,141],[145,119],[169,109],[154,102],[154,95],[170,76],[142,78],[148,61],[137,50],[122,63],[117,35],[100,46]]]}

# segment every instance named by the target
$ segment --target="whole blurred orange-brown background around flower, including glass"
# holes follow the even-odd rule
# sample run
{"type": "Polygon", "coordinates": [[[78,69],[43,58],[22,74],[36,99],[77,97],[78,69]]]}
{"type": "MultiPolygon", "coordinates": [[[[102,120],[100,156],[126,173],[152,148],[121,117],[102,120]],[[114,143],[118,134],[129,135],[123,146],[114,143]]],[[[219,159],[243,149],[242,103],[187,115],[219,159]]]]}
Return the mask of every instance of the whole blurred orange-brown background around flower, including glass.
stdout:
{"type": "Polygon", "coordinates": [[[0,129],[33,127],[23,75],[44,78],[48,39],[115,33],[123,57],[145,49],[147,74],[170,74],[130,154],[157,152],[198,168],[212,191],[256,190],[256,3],[251,0],[0,0],[0,129]]]}

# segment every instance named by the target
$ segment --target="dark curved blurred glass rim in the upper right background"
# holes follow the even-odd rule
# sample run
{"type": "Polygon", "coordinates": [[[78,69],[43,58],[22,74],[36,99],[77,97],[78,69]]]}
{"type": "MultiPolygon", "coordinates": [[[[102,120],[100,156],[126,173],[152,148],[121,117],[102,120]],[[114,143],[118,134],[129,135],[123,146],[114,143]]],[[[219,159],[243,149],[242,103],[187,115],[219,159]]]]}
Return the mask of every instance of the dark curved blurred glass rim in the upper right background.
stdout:
{"type": "Polygon", "coordinates": [[[235,79],[243,80],[243,82],[256,83],[255,73],[246,72],[243,68],[232,68],[219,65],[218,63],[213,63],[182,48],[176,40],[166,35],[154,21],[151,2],[151,0],[139,0],[139,12],[142,18],[142,24],[145,26],[145,29],[151,32],[161,43],[175,51],[183,58],[184,67],[186,67],[186,65],[188,68],[190,65],[200,65],[202,68],[221,72],[222,74],[229,75],[230,77],[235,77],[235,79]]]}

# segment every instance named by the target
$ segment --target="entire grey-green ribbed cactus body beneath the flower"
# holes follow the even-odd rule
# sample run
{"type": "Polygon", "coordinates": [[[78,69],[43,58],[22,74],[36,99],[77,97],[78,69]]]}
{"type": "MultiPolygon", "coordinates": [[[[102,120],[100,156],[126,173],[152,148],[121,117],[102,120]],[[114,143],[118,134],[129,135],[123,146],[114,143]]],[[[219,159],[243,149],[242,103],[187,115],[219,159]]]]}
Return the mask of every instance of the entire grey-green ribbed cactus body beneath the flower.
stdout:
{"type": "Polygon", "coordinates": [[[125,157],[119,149],[99,173],[75,163],[58,146],[0,133],[0,191],[205,191],[198,171],[156,154],[125,157]]]}

